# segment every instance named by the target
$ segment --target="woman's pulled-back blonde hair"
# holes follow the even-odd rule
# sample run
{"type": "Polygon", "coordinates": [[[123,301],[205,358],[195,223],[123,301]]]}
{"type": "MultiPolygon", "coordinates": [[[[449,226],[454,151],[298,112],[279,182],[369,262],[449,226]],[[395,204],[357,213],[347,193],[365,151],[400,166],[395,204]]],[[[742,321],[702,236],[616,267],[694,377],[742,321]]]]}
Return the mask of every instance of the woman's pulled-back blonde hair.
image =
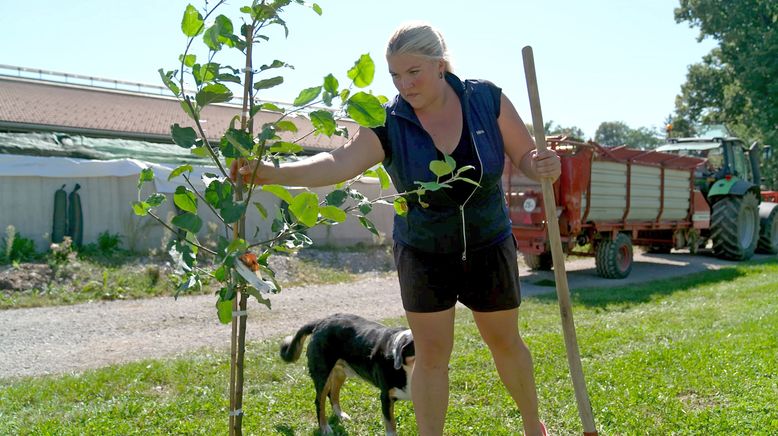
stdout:
{"type": "Polygon", "coordinates": [[[442,60],[446,64],[446,71],[453,71],[443,34],[428,23],[404,23],[394,31],[386,44],[386,57],[398,54],[442,60]]]}

